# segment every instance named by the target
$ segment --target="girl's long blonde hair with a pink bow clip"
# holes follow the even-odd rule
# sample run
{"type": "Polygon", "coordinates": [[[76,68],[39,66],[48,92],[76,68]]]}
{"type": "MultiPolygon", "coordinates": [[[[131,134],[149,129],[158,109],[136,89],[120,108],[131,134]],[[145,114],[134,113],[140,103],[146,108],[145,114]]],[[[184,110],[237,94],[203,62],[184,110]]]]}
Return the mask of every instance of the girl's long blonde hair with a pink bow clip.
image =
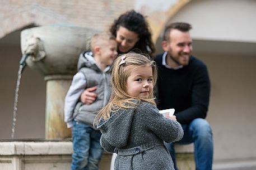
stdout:
{"type": "Polygon", "coordinates": [[[148,97],[148,99],[142,99],[139,97],[130,96],[127,94],[127,79],[131,75],[131,70],[139,67],[139,66],[151,66],[152,67],[152,82],[153,86],[156,84],[157,79],[157,67],[155,61],[152,61],[150,56],[145,54],[136,54],[130,52],[128,54],[124,54],[119,56],[113,63],[111,67],[111,88],[112,93],[109,100],[109,103],[104,106],[103,109],[99,111],[96,116],[96,122],[101,117],[103,119],[108,119],[110,117],[110,113],[118,111],[121,108],[134,108],[136,107],[136,103],[134,101],[147,101],[156,105],[155,98],[153,96],[153,91],[148,97]],[[125,56],[125,59],[122,59],[125,56]],[[123,64],[120,64],[124,62],[123,64]]]}

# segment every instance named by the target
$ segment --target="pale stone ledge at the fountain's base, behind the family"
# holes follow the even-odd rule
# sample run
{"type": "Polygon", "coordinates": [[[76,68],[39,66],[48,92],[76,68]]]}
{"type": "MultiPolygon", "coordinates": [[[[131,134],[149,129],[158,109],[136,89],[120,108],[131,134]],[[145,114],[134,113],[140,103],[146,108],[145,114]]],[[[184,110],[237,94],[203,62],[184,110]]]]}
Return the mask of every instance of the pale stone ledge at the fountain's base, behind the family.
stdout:
{"type": "MultiPolygon", "coordinates": [[[[191,169],[190,164],[193,161],[193,152],[190,151],[191,148],[193,148],[193,145],[177,145],[177,147],[178,166],[182,167],[184,170],[191,169]],[[189,153],[185,153],[185,155],[183,156],[183,152],[189,153]]],[[[70,169],[70,164],[72,161],[72,152],[72,142],[70,140],[57,142],[0,142],[0,169],[68,170],[70,169]]],[[[104,152],[99,164],[99,170],[109,169],[111,157],[111,153],[104,152]]]]}

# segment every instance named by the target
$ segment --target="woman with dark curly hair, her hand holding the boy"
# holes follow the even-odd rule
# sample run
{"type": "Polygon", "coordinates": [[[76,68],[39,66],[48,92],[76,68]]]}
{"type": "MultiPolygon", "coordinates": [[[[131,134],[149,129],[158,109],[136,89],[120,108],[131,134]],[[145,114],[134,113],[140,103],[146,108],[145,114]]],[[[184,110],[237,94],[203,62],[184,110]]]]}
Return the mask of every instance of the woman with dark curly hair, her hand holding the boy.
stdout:
{"type": "MultiPolygon", "coordinates": [[[[145,17],[134,10],[121,14],[110,27],[118,42],[118,54],[129,51],[148,54],[152,57],[155,46],[145,17]]],[[[94,103],[96,86],[83,91],[80,100],[85,104],[94,103]]]]}

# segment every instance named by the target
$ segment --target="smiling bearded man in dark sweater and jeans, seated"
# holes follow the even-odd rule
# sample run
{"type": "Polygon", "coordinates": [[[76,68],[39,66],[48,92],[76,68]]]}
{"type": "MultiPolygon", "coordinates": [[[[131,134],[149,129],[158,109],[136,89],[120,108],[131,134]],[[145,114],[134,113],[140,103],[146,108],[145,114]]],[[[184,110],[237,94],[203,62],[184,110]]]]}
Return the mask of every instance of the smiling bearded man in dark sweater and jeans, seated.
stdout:
{"type": "MultiPolygon", "coordinates": [[[[211,170],[213,139],[210,124],[204,119],[208,110],[210,79],[206,65],[192,56],[192,38],[189,23],[171,23],[166,26],[162,48],[156,56],[159,67],[157,101],[159,110],[175,109],[184,137],[175,143],[194,143],[197,170],[211,170]]],[[[165,143],[174,161],[175,143],[165,143]]]]}

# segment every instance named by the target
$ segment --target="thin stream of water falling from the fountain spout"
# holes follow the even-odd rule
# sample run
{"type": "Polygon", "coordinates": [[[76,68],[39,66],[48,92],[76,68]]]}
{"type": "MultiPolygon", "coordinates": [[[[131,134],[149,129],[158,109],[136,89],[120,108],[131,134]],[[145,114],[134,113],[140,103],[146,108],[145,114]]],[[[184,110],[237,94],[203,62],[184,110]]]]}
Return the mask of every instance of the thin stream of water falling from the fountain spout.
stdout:
{"type": "Polygon", "coordinates": [[[18,69],[18,78],[17,78],[16,89],[15,89],[15,98],[14,98],[14,106],[13,106],[12,136],[11,136],[12,139],[14,138],[14,133],[15,133],[17,105],[18,105],[18,89],[20,87],[21,72],[23,70],[23,67],[24,65],[20,65],[20,69],[18,69]]]}

